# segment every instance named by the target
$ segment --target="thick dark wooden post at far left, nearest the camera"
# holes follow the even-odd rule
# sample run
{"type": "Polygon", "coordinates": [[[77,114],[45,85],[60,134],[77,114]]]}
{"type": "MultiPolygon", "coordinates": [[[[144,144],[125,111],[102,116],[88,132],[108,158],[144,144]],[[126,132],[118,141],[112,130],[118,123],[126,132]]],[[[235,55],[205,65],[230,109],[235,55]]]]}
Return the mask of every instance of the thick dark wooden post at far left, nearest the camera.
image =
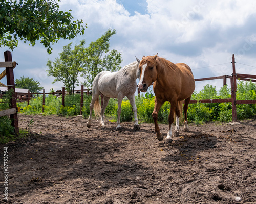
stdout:
{"type": "MultiPolygon", "coordinates": [[[[12,54],[10,51],[5,51],[5,62],[12,62],[12,54]]],[[[13,95],[10,103],[10,108],[17,108],[16,98],[15,98],[15,85],[14,85],[14,73],[13,67],[6,67],[6,79],[8,90],[13,89],[13,95]]],[[[18,113],[11,114],[10,119],[12,121],[12,126],[15,128],[15,133],[18,134],[18,113]]]]}

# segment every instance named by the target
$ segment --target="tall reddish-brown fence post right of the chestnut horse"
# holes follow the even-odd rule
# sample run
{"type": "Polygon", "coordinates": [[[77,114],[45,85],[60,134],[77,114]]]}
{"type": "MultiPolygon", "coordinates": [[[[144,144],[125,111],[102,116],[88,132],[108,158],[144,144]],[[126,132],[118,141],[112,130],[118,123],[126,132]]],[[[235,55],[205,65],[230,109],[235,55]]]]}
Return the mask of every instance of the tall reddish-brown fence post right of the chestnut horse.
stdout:
{"type": "Polygon", "coordinates": [[[234,65],[236,63],[234,61],[234,54],[232,55],[232,68],[233,68],[233,74],[232,78],[230,78],[231,81],[231,100],[232,100],[232,121],[237,122],[237,105],[236,105],[236,92],[237,92],[237,76],[236,76],[236,67],[234,65]]]}

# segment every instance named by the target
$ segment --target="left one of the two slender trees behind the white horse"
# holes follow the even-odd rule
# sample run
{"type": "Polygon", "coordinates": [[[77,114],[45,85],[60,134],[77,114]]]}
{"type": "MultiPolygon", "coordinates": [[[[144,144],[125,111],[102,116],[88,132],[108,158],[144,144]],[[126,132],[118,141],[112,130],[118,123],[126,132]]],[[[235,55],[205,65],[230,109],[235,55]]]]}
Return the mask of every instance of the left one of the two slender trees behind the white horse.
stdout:
{"type": "Polygon", "coordinates": [[[78,48],[77,46],[72,49],[72,43],[63,46],[62,52],[59,54],[59,58],[55,59],[55,62],[48,60],[47,70],[48,76],[55,77],[55,82],[63,82],[68,92],[73,92],[75,85],[78,84],[78,74],[81,70],[79,59],[77,58],[78,48]]]}

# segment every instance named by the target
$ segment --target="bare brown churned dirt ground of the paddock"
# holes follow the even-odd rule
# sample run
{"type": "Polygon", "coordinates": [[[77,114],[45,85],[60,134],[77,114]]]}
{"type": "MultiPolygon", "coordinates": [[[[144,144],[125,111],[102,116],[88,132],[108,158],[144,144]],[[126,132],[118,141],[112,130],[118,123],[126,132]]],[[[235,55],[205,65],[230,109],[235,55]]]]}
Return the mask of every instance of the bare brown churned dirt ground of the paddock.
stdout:
{"type": "MultiPolygon", "coordinates": [[[[189,124],[170,144],[157,140],[154,124],[116,130],[113,122],[104,129],[86,122],[19,114],[19,127],[32,134],[1,145],[9,174],[8,201],[1,195],[0,202],[256,203],[256,118],[189,124]]],[[[167,125],[160,129],[166,137],[167,125]]]]}

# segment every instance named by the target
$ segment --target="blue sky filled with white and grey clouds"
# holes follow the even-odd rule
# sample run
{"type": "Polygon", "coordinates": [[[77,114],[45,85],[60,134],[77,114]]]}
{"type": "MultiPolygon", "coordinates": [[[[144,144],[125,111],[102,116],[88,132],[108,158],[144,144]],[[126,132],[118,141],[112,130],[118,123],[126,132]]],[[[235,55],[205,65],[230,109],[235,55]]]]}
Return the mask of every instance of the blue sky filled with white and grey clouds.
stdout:
{"type": "MultiPolygon", "coordinates": [[[[142,59],[158,53],[173,63],[186,63],[195,79],[207,78],[231,75],[234,54],[237,73],[256,74],[254,0],[61,0],[59,6],[62,11],[71,9],[74,20],[87,23],[84,35],[59,40],[50,55],[39,41],[34,47],[20,41],[13,51],[0,48],[0,61],[4,61],[4,51],[10,50],[19,64],[14,69],[15,79],[23,75],[33,78],[46,92],[63,86],[62,82],[52,84],[47,61],[55,61],[70,42],[75,45],[85,39],[89,46],[110,28],[117,32],[110,39],[110,49],[122,54],[122,67],[136,61],[135,56],[142,59]]],[[[6,78],[0,82],[7,84],[6,78]]],[[[230,80],[227,83],[230,87],[230,80]]],[[[219,91],[223,80],[196,82],[196,91],[206,84],[219,91]]]]}

